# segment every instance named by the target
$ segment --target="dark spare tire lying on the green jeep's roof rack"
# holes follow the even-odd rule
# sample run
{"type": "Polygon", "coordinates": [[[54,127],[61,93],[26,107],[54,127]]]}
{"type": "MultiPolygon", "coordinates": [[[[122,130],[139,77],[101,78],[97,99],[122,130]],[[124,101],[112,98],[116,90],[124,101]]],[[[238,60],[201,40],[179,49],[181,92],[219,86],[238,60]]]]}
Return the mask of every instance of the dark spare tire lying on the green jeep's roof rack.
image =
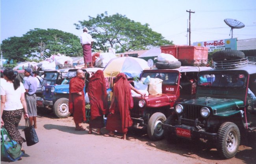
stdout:
{"type": "Polygon", "coordinates": [[[223,50],[223,51],[217,51],[212,54],[212,60],[214,62],[219,62],[223,60],[237,60],[245,58],[245,54],[242,51],[237,50],[223,50]]]}

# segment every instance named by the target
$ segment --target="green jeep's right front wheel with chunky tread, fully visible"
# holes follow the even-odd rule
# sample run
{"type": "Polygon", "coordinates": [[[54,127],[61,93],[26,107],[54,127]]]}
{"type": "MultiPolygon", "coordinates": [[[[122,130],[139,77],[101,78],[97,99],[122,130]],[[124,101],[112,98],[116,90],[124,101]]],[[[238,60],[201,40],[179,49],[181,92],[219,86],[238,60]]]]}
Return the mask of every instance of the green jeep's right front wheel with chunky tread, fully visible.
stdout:
{"type": "Polygon", "coordinates": [[[224,122],[218,130],[217,150],[221,157],[230,159],[237,153],[240,131],[233,122],[224,122]]]}

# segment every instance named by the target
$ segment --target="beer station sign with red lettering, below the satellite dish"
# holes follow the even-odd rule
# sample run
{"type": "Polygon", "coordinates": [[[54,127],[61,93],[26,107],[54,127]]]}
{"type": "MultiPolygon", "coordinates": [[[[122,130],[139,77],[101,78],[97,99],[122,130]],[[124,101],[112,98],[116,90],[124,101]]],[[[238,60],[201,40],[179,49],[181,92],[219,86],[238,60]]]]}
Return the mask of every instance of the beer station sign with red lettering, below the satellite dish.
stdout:
{"type": "Polygon", "coordinates": [[[236,50],[236,38],[194,42],[193,46],[208,47],[208,52],[221,51],[226,49],[236,50]]]}

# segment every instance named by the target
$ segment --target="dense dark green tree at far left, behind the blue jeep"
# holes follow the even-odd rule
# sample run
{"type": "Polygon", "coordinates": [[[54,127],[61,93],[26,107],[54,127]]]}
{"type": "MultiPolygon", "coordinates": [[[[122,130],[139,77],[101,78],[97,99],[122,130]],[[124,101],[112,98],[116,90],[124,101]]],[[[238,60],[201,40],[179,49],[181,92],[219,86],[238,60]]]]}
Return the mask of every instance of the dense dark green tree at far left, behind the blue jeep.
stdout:
{"type": "Polygon", "coordinates": [[[2,41],[1,50],[7,59],[17,62],[27,61],[30,57],[47,58],[61,53],[67,56],[82,55],[78,36],[57,29],[33,29],[21,37],[10,37],[2,41]]]}

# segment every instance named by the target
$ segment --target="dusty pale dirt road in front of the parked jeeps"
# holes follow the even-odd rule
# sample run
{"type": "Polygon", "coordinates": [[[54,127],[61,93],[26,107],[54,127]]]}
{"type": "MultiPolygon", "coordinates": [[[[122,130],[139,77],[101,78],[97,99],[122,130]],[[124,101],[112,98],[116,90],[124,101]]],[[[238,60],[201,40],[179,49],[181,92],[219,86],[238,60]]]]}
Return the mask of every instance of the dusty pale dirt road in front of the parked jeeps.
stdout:
{"type": "MultiPolygon", "coordinates": [[[[121,134],[104,137],[86,131],[75,131],[72,117],[59,119],[53,113],[39,113],[37,117],[39,143],[26,146],[25,155],[17,164],[95,164],[95,163],[132,163],[132,164],[254,164],[256,150],[241,145],[236,157],[219,159],[216,149],[208,149],[200,142],[182,140],[181,143],[168,144],[165,139],[151,141],[146,132],[140,129],[128,131],[127,140],[121,134]]],[[[24,137],[25,121],[20,122],[20,133],[24,137]]],[[[102,128],[102,133],[107,133],[102,128]]],[[[2,162],[7,164],[9,162],[2,162]]]]}

